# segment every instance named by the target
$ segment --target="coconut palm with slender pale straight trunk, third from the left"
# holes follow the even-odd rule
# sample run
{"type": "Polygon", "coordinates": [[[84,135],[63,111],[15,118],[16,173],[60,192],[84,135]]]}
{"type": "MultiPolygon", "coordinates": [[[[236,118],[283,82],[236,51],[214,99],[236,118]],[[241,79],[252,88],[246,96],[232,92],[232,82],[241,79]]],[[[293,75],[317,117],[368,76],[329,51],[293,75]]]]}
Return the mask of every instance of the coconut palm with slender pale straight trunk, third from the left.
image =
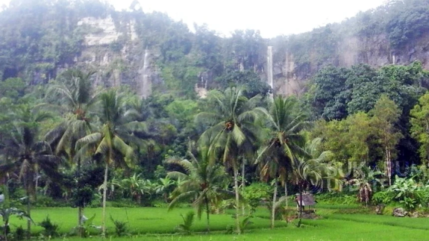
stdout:
{"type": "Polygon", "coordinates": [[[140,122],[133,121],[135,113],[132,110],[126,111],[124,106],[123,97],[116,90],[111,89],[100,94],[98,116],[103,125],[98,131],[76,142],[76,148],[84,145],[95,145],[94,157],[104,160],[103,236],[106,234],[106,192],[109,166],[128,166],[134,156],[134,150],[126,142],[130,143],[136,140],[131,133],[140,126],[140,122]]]}

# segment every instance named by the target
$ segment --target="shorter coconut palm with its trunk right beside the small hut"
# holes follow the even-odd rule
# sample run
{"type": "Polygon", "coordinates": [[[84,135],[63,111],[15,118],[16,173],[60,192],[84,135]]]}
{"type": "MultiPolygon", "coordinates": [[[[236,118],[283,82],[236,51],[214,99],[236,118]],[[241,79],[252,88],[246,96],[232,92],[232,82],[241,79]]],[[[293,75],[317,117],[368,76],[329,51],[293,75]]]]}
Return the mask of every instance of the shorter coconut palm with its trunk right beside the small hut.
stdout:
{"type": "MultiPolygon", "coordinates": [[[[308,141],[304,146],[305,152],[294,158],[292,180],[298,186],[299,204],[302,204],[302,192],[310,185],[323,187],[324,180],[338,184],[338,179],[335,176],[338,172],[335,167],[327,163],[332,153],[321,151],[320,143],[320,138],[308,141]]],[[[299,224],[301,224],[302,205],[298,206],[299,224]]]]}

